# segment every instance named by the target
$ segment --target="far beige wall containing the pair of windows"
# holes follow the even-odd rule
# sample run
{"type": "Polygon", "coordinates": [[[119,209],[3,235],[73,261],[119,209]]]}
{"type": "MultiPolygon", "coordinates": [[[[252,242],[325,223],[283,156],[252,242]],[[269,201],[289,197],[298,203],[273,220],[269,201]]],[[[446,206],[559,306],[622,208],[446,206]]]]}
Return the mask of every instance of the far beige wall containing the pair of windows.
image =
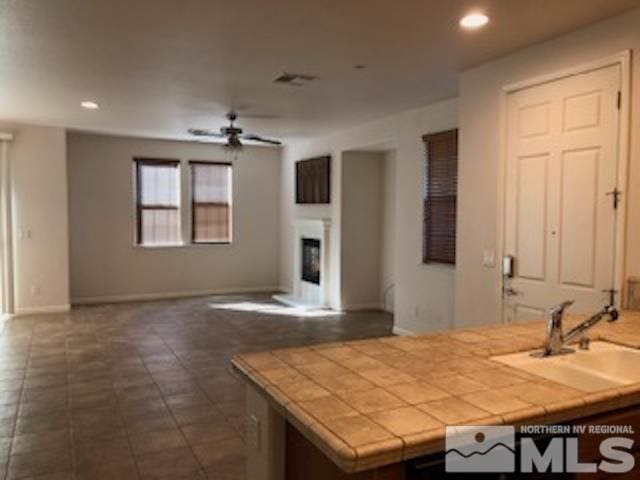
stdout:
{"type": "Polygon", "coordinates": [[[278,285],[278,149],[245,147],[234,161],[233,244],[167,248],[134,246],[133,157],[183,160],[182,202],[188,208],[186,161],[226,160],[223,147],[69,133],[68,153],[74,302],[278,285]]]}

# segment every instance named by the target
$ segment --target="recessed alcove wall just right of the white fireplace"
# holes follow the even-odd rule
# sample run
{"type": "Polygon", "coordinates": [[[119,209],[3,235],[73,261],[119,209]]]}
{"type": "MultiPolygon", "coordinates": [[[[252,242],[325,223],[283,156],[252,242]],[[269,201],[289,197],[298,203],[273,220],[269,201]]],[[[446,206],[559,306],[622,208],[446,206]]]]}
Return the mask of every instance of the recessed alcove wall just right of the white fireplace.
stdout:
{"type": "Polygon", "coordinates": [[[342,154],[341,299],[346,310],[380,308],[382,152],[342,154]]]}

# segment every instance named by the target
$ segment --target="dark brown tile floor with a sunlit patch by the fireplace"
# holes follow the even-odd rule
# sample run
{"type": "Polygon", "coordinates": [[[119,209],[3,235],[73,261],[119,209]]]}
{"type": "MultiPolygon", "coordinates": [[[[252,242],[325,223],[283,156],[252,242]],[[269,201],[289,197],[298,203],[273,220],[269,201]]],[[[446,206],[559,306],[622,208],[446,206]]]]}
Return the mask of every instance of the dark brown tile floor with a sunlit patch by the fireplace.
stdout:
{"type": "Polygon", "coordinates": [[[0,480],[244,478],[238,352],[389,335],[380,312],[267,296],[82,307],[0,324],[0,480]]]}

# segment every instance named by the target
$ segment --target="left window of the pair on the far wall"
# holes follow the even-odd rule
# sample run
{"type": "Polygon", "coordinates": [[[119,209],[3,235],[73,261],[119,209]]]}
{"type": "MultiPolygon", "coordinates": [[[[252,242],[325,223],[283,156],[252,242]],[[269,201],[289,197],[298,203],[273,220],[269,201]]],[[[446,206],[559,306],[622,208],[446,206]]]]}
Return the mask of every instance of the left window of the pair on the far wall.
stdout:
{"type": "Polygon", "coordinates": [[[135,159],[138,245],[180,244],[180,162],[135,159]]]}

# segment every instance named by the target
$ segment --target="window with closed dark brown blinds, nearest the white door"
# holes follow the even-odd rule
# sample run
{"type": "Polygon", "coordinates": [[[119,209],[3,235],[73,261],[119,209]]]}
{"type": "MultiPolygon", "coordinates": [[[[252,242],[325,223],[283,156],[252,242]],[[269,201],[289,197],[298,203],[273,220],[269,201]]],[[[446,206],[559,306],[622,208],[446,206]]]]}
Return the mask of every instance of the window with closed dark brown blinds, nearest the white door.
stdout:
{"type": "Polygon", "coordinates": [[[456,263],[458,130],[422,137],[424,179],[424,263],[456,263]]]}

